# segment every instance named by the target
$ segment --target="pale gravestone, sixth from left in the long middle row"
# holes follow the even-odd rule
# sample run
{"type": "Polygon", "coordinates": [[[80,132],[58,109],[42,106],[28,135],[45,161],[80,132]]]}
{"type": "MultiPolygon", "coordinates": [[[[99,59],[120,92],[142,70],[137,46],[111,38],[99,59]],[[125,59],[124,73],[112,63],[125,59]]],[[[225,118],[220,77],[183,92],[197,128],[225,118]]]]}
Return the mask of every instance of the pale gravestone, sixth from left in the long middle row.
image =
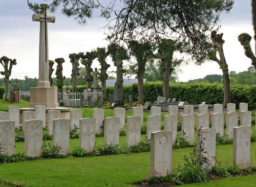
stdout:
{"type": "Polygon", "coordinates": [[[129,116],[126,118],[126,144],[128,147],[140,142],[140,117],[129,116]]]}

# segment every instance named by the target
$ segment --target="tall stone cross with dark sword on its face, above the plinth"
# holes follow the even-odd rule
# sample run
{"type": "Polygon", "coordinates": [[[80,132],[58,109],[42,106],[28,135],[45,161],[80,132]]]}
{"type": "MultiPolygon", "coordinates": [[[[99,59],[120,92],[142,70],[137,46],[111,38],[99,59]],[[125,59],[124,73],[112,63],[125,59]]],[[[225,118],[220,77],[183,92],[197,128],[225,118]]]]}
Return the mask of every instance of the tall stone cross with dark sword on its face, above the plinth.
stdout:
{"type": "Polygon", "coordinates": [[[55,22],[54,16],[47,15],[47,4],[41,4],[41,14],[33,14],[32,20],[40,22],[39,35],[39,81],[37,87],[50,87],[47,22],[55,22]]]}

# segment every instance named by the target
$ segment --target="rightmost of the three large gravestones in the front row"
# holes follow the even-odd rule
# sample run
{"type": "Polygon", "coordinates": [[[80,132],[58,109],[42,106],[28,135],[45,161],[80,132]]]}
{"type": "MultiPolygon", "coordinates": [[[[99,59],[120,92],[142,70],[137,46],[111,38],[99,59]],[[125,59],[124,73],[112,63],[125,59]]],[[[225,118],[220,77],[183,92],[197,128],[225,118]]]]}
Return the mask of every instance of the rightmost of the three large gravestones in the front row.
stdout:
{"type": "Polygon", "coordinates": [[[233,128],[233,165],[240,169],[250,166],[250,127],[233,128]]]}

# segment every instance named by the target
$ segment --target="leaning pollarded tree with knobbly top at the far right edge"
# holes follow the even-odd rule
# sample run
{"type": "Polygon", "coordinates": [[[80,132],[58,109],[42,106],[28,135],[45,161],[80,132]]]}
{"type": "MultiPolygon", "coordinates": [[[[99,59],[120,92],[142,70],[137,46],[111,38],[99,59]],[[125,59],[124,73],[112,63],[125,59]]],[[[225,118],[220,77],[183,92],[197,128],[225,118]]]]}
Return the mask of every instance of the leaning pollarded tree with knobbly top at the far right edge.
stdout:
{"type": "Polygon", "coordinates": [[[251,36],[248,33],[242,33],[238,36],[238,41],[240,41],[241,45],[244,47],[245,56],[251,59],[251,65],[256,69],[256,57],[253,54],[250,45],[251,36]]]}

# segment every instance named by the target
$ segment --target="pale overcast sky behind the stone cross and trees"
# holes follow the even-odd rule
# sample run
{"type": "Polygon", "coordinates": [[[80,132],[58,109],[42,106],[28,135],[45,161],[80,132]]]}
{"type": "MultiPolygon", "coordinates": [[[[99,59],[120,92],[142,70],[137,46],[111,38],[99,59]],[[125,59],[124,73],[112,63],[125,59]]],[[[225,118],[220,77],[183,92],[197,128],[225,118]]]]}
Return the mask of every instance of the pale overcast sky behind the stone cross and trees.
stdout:
{"type": "MultiPolygon", "coordinates": [[[[35,1],[33,3],[45,3],[35,1]]],[[[25,76],[38,78],[38,49],[39,49],[39,22],[32,21],[33,12],[28,9],[27,0],[0,0],[0,55],[15,58],[17,65],[13,66],[11,78],[24,79],[25,76]]],[[[107,46],[104,40],[104,31],[99,29],[106,24],[104,19],[97,15],[81,27],[73,18],[68,18],[60,13],[60,8],[54,14],[56,21],[48,24],[49,59],[64,58],[63,74],[71,77],[72,64],[69,54],[91,51],[97,47],[107,46]]],[[[251,66],[251,61],[244,55],[242,45],[238,41],[238,35],[246,32],[253,33],[251,0],[234,0],[234,7],[229,14],[221,14],[223,32],[224,54],[229,71],[246,71],[251,66]]],[[[254,51],[254,40],[251,41],[254,51]]],[[[113,62],[108,60],[113,67],[113,62]]],[[[83,66],[83,65],[80,65],[83,66]]],[[[95,60],[92,67],[98,67],[95,60]]],[[[0,66],[0,71],[3,71],[0,66]]],[[[56,64],[54,65],[56,69],[56,64]]],[[[201,66],[193,64],[181,66],[179,81],[203,78],[209,74],[222,75],[217,62],[207,62],[201,66]]],[[[113,68],[112,68],[113,70],[113,68]]],[[[0,75],[0,78],[4,76],[0,75]]],[[[55,71],[53,73],[55,77],[55,71]]]]}

